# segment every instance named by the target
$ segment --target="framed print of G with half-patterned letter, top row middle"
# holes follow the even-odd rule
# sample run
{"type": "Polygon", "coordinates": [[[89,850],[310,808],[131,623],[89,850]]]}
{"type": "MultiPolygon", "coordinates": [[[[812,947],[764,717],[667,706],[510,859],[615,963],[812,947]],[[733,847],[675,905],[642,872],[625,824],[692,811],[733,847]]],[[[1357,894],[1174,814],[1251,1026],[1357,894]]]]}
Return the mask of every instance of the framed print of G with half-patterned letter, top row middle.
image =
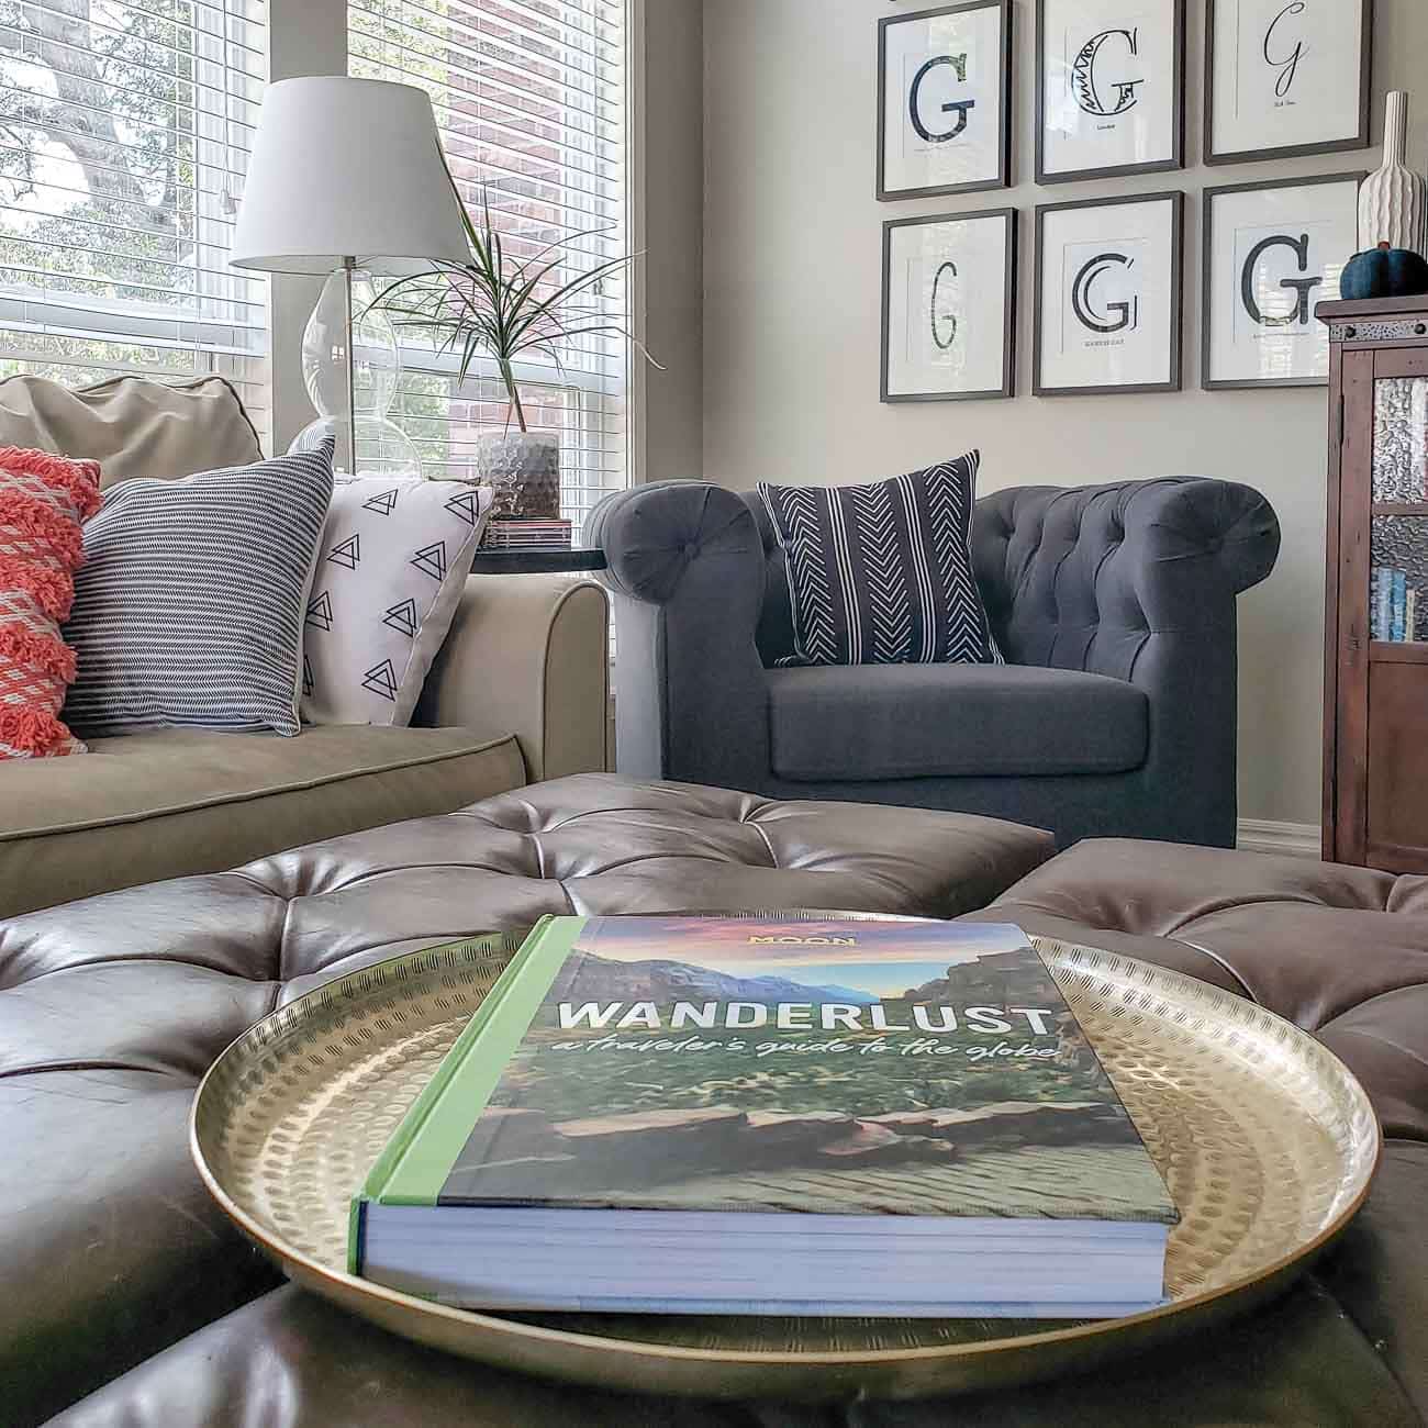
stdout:
{"type": "Polygon", "coordinates": [[[1184,0],[1037,0],[1037,183],[1184,163],[1184,0]]]}

